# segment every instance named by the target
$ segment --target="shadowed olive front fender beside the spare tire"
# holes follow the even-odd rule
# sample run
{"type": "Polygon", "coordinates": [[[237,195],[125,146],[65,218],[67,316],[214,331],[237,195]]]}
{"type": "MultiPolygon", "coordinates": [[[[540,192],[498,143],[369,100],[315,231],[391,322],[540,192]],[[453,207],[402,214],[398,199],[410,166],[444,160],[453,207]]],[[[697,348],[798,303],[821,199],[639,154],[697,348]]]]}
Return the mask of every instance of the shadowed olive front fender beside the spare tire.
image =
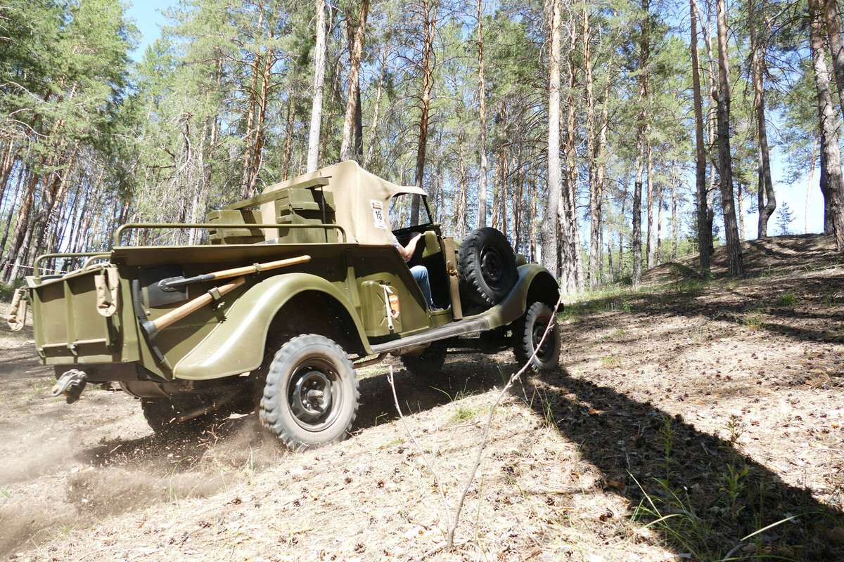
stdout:
{"type": "Polygon", "coordinates": [[[519,278],[510,294],[493,308],[478,314],[478,317],[489,320],[490,329],[506,326],[521,318],[529,302],[545,302],[554,308],[560,298],[560,286],[542,265],[519,265],[518,273],[519,278]]]}

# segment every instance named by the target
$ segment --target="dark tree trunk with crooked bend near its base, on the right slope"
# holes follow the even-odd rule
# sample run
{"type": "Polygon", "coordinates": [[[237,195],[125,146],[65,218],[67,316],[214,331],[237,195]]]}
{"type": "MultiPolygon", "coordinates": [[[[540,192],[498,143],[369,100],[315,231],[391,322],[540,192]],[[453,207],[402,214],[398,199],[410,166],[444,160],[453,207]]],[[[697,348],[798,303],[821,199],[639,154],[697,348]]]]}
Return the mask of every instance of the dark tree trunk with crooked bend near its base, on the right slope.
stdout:
{"type": "MultiPolygon", "coordinates": [[[[763,82],[766,71],[765,53],[767,46],[767,25],[765,35],[756,35],[756,14],[753,8],[755,0],[748,2],[748,20],[750,28],[750,51],[753,53],[750,62],[751,73],[753,74],[753,105],[756,113],[756,147],[759,156],[759,185],[757,196],[759,198],[759,234],[758,238],[766,238],[768,235],[768,220],[776,210],[776,194],[774,183],[771,180],[771,157],[768,153],[768,132],[765,120],[765,84],[763,82]]],[[[762,4],[762,17],[766,19],[762,4]]],[[[739,211],[740,214],[740,211],[739,211]]]]}

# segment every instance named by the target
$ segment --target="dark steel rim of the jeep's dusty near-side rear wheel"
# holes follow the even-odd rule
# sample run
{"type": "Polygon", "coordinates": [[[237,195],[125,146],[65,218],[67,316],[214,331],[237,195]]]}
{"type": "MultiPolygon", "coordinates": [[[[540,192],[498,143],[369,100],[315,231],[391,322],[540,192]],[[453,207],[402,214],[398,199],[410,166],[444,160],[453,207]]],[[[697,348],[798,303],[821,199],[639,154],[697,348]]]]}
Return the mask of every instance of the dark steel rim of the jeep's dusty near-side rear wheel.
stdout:
{"type": "Polygon", "coordinates": [[[343,404],[343,389],[331,362],[302,361],[290,377],[287,399],[293,419],[303,429],[322,431],[331,426],[343,404]]]}

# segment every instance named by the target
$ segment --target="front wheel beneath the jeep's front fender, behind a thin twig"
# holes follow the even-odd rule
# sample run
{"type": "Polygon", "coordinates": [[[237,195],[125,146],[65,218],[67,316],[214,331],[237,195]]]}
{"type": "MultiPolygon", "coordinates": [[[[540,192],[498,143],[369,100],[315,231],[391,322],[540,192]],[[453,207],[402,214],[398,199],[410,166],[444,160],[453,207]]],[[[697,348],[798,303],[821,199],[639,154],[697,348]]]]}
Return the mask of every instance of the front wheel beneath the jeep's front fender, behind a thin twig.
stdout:
{"type": "Polygon", "coordinates": [[[513,339],[515,340],[513,352],[517,361],[524,364],[533,356],[533,350],[536,349],[539,340],[542,340],[549,322],[553,322],[554,325],[531,361],[531,368],[535,372],[552,372],[560,361],[562,340],[560,324],[557,324],[554,311],[544,302],[533,302],[522,318],[519,318],[513,325],[513,339]]]}

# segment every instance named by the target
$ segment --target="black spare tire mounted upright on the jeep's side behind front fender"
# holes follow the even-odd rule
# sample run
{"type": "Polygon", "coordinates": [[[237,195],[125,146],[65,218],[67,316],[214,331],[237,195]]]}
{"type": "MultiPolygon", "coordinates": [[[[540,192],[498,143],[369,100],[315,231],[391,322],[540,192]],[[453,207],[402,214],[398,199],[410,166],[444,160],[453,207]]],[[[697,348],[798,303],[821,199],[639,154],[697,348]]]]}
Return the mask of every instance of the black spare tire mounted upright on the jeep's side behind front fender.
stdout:
{"type": "Polygon", "coordinates": [[[478,228],[460,244],[457,268],[463,294],[486,307],[498,304],[516,285],[516,254],[495,228],[478,228]]]}

